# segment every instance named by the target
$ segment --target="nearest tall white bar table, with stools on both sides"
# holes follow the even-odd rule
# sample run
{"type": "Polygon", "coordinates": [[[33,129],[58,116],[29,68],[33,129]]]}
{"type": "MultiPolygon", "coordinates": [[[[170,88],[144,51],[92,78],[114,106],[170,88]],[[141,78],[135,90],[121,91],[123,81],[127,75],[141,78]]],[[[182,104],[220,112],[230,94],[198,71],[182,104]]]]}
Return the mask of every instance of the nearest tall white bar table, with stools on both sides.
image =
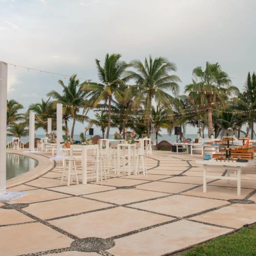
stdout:
{"type": "Polygon", "coordinates": [[[87,150],[96,150],[96,182],[99,182],[99,146],[98,145],[70,145],[70,157],[73,157],[73,150],[82,151],[82,184],[87,184],[87,150]]]}

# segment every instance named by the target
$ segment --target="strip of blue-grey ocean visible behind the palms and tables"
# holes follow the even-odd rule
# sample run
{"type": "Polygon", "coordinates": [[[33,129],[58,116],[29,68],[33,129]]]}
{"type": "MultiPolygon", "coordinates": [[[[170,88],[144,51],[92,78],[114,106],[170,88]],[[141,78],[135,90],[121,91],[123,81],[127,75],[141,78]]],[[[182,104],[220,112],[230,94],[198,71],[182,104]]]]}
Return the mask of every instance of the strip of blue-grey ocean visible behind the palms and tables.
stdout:
{"type": "MultiPolygon", "coordinates": [[[[95,134],[95,135],[99,135],[102,136],[101,134],[95,134]]],[[[95,136],[94,135],[94,136],[95,136]]],[[[35,134],[35,138],[45,138],[45,135],[39,135],[39,134],[35,134]]],[[[87,138],[90,138],[89,135],[87,135],[87,138]]],[[[110,139],[113,138],[113,134],[111,134],[109,136],[110,139]]],[[[179,138],[179,136],[178,136],[179,138]]],[[[185,135],[185,138],[190,138],[190,139],[194,139],[197,138],[197,134],[187,134],[185,135]]],[[[79,134],[74,134],[74,140],[79,140],[79,134]]],[[[177,141],[177,136],[176,135],[167,135],[167,134],[162,134],[162,137],[158,136],[158,143],[161,142],[161,140],[167,140],[167,142],[174,144],[177,141]]],[[[7,137],[7,143],[12,141],[12,137],[7,137]]],[[[21,137],[20,141],[24,142],[24,144],[26,144],[27,142],[29,142],[29,136],[25,136],[25,137],[21,137]]],[[[6,143],[6,144],[7,144],[6,143]]]]}

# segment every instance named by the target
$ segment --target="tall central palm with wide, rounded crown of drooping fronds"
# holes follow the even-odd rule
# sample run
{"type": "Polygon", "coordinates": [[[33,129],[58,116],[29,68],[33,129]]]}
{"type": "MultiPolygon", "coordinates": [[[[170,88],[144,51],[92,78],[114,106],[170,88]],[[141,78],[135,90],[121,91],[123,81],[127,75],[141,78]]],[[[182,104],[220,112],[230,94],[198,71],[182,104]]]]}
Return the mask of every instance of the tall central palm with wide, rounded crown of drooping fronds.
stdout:
{"type": "MultiPolygon", "coordinates": [[[[127,79],[135,80],[135,83],[139,85],[139,92],[134,99],[133,108],[138,108],[143,101],[145,102],[147,137],[149,138],[153,99],[158,105],[169,106],[174,98],[165,90],[171,90],[174,95],[177,95],[179,91],[178,82],[181,82],[181,80],[176,75],[169,75],[169,71],[176,71],[176,65],[164,57],[153,60],[150,56],[149,61],[145,58],[144,65],[140,60],[133,60],[130,65],[135,71],[127,71],[125,76],[127,79]]],[[[127,92],[127,97],[132,97],[133,92],[134,87],[127,92]]]]}

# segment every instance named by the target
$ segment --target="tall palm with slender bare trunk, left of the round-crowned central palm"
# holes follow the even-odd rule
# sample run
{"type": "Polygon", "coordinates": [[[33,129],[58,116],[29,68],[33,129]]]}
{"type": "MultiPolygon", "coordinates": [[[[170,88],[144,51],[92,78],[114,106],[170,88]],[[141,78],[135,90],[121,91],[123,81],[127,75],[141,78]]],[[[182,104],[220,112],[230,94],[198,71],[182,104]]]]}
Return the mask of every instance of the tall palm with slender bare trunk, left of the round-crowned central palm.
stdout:
{"type": "Polygon", "coordinates": [[[85,82],[84,91],[90,91],[90,102],[96,107],[101,101],[108,104],[108,127],[106,138],[109,139],[109,130],[111,124],[111,104],[113,98],[117,100],[122,98],[120,86],[124,85],[128,79],[122,78],[125,69],[128,67],[125,61],[121,61],[121,54],[106,54],[104,66],[96,59],[98,77],[101,83],[85,82]]]}

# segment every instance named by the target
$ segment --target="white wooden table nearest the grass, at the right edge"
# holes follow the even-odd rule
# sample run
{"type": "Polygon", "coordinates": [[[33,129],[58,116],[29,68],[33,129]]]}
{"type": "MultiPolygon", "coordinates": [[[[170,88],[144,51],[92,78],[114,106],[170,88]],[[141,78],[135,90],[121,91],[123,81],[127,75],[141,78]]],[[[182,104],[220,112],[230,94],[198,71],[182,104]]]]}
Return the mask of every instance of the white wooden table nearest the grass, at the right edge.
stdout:
{"type": "Polygon", "coordinates": [[[237,180],[237,195],[241,196],[241,173],[242,167],[255,165],[256,160],[250,160],[248,162],[232,162],[232,161],[216,161],[216,160],[198,160],[196,161],[197,164],[203,165],[203,192],[206,193],[207,189],[207,178],[216,178],[221,180],[237,180]],[[225,176],[214,176],[214,175],[207,175],[207,168],[208,167],[218,167],[219,169],[223,169],[225,171],[227,169],[227,177],[225,176]],[[236,177],[230,177],[230,170],[235,170],[237,172],[236,177]]]}

